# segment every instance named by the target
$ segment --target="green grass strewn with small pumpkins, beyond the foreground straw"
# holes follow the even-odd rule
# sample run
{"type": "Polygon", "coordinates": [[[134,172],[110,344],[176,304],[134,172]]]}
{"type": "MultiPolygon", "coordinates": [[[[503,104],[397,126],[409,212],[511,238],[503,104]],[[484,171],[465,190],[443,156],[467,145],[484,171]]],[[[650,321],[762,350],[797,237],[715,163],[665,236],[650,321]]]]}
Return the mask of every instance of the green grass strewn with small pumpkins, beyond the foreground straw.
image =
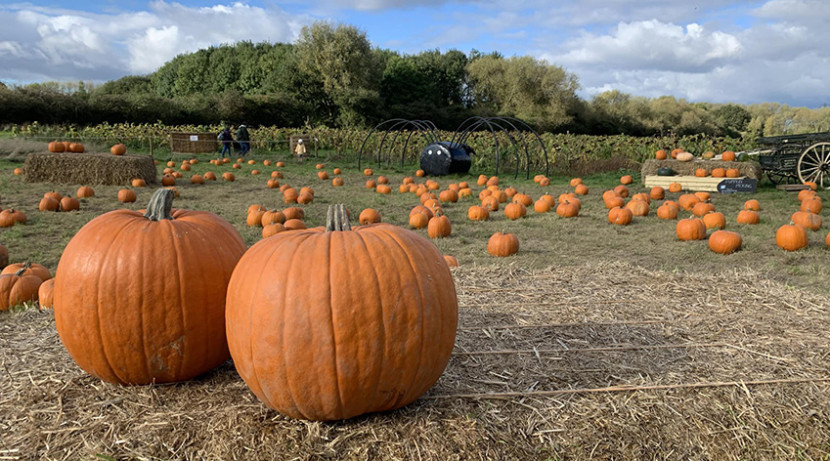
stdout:
{"type": "MultiPolygon", "coordinates": [[[[163,151],[156,151],[155,154],[156,158],[161,160],[158,165],[160,177],[170,154],[163,151]]],[[[178,167],[181,159],[192,156],[174,154],[172,157],[178,167]]],[[[174,206],[219,214],[239,230],[248,245],[261,238],[260,228],[249,228],[245,224],[249,205],[260,203],[269,209],[288,206],[283,203],[282,194],[278,189],[265,187],[270,172],[276,169],[274,166],[262,165],[262,160],[266,158],[275,162],[286,162],[286,166],[279,169],[285,175],[281,180],[283,184],[290,184],[297,189],[311,186],[316,191],[314,202],[304,206],[309,227],[323,225],[326,208],[333,203],[345,203],[355,216],[364,208],[375,208],[385,222],[407,226],[410,208],[419,203],[413,194],[401,194],[397,188],[405,176],[414,176],[415,166],[401,170],[364,164],[364,167],[374,168],[373,178],[376,179],[379,175],[389,178],[393,192],[391,195],[381,195],[365,188],[367,178],[363,176],[362,171],[358,171],[356,163],[351,161],[311,158],[300,165],[287,153],[257,153],[252,157],[257,161],[256,165],[244,164],[241,170],[231,170],[230,164],[222,167],[209,164],[208,160],[213,158],[211,155],[196,157],[200,162],[193,165],[191,171],[184,172],[185,177],[177,182],[181,196],[174,206]],[[330,175],[333,168],[341,168],[341,176],[346,185],[337,188],[331,185],[330,180],[319,180],[314,166],[320,161],[325,163],[325,169],[330,175]],[[255,168],[262,171],[262,174],[252,176],[250,172],[255,168]],[[203,174],[206,171],[213,171],[220,179],[216,182],[208,181],[202,186],[190,184],[191,174],[203,174]],[[222,181],[221,173],[224,171],[233,171],[236,181],[222,181]]],[[[8,248],[12,262],[31,260],[44,264],[53,271],[57,267],[64,246],[86,222],[117,208],[143,208],[153,192],[152,187],[136,189],[138,201],[124,205],[116,200],[116,194],[118,189],[129,187],[128,185],[93,185],[96,195],[82,200],[80,211],[39,212],[37,205],[44,192],[57,190],[62,194],[74,195],[80,184],[27,183],[22,176],[12,174],[12,170],[18,166],[18,162],[0,160],[0,206],[23,210],[29,222],[23,226],[0,229],[0,243],[8,248]]],[[[606,218],[607,211],[601,200],[602,192],[617,185],[619,177],[628,173],[635,177],[635,183],[630,186],[632,194],[646,191],[639,183],[639,174],[636,172],[620,170],[584,177],[584,183],[590,187],[590,193],[584,197],[582,211],[577,218],[562,219],[553,212],[536,214],[531,208],[528,216],[518,221],[508,220],[503,211],[499,210],[491,213],[490,221],[483,223],[471,222],[466,218],[467,208],[478,203],[475,196],[481,187],[475,185],[475,180],[479,173],[489,172],[476,171],[470,175],[436,178],[442,188],[451,182],[468,181],[475,191],[472,198],[445,205],[445,211],[453,226],[452,235],[435,241],[442,252],[456,256],[462,265],[517,264],[524,267],[547,267],[625,260],[652,270],[718,272],[723,273],[724,277],[736,279],[742,277],[744,268],[752,268],[766,277],[792,286],[822,292],[830,289],[826,283],[830,275],[830,253],[824,244],[826,226],[818,232],[810,232],[810,246],[802,251],[788,253],[778,249],[775,245],[775,230],[789,221],[790,215],[798,209],[798,202],[795,193],[777,190],[770,184],[762,184],[758,192],[752,195],[713,194],[712,202],[716,209],[726,216],[727,229],[739,232],[744,242],[741,251],[723,256],[709,251],[705,241],[678,241],[674,233],[674,222],[659,220],[654,214],[657,202],[652,202],[650,216],[635,218],[629,226],[609,224],[606,218]],[[738,211],[743,208],[744,201],[749,198],[757,198],[761,202],[761,223],[754,226],[739,225],[735,218],[738,211]],[[512,232],[519,237],[521,249],[518,255],[496,259],[487,254],[487,239],[496,231],[512,232]]],[[[570,178],[566,177],[552,177],[551,185],[545,188],[521,177],[513,180],[512,175],[502,175],[501,179],[502,187],[513,186],[520,192],[530,194],[534,199],[543,193],[557,196],[571,190],[568,186],[570,178]]],[[[667,198],[676,199],[678,195],[667,194],[667,198]]],[[[825,191],[821,191],[819,195],[823,199],[828,198],[825,191]]],[[[686,216],[689,213],[683,212],[681,215],[686,216]]],[[[826,216],[826,212],[823,211],[822,215],[826,216]]],[[[426,236],[423,230],[417,232],[426,236]]],[[[621,274],[621,280],[624,279],[625,275],[621,274]]]]}

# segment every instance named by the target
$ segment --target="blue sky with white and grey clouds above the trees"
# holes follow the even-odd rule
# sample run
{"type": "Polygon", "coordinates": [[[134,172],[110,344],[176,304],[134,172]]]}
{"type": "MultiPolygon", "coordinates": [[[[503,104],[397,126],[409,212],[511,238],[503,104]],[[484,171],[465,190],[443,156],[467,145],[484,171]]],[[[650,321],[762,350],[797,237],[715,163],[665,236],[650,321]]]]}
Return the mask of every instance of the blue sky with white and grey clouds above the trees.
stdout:
{"type": "Polygon", "coordinates": [[[293,42],[318,20],[378,47],[533,56],[610,89],[691,102],[830,104],[830,0],[36,1],[0,4],[0,81],[147,74],[210,45],[293,42]]]}

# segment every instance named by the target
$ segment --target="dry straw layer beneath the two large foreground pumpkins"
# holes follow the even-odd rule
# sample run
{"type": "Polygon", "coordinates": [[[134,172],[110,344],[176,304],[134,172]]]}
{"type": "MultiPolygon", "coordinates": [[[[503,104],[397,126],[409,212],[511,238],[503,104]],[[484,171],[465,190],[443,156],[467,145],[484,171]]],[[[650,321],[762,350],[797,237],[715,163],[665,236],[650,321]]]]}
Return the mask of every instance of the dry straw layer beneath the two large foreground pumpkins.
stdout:
{"type": "Polygon", "coordinates": [[[228,362],[120,387],[74,365],[51,312],[0,313],[2,459],[827,459],[823,294],[751,269],[625,262],[454,270],[437,385],[337,423],[268,410],[228,362]]]}

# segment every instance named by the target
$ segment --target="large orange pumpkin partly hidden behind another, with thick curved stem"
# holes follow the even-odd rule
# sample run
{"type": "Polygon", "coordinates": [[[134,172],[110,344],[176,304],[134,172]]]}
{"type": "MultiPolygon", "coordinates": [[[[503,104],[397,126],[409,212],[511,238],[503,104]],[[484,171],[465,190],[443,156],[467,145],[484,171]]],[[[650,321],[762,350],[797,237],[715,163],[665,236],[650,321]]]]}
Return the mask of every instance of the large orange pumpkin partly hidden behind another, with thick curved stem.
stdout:
{"type": "Polygon", "coordinates": [[[229,357],[225,293],[245,243],[219,216],[172,202],[173,192],[159,189],[144,215],[115,210],[91,220],[58,264],[58,334],[75,362],[105,381],[181,381],[229,357]]]}

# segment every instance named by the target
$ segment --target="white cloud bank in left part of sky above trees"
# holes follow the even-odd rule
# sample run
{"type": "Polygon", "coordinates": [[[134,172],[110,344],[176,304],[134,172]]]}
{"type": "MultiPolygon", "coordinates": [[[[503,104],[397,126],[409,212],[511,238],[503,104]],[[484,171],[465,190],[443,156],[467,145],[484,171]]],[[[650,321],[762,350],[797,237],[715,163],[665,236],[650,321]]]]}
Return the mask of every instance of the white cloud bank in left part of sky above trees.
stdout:
{"type": "Polygon", "coordinates": [[[93,14],[0,6],[0,79],[111,80],[153,72],[178,54],[211,45],[291,42],[305,17],[243,3],[187,7],[155,1],[149,11],[93,14]]]}

